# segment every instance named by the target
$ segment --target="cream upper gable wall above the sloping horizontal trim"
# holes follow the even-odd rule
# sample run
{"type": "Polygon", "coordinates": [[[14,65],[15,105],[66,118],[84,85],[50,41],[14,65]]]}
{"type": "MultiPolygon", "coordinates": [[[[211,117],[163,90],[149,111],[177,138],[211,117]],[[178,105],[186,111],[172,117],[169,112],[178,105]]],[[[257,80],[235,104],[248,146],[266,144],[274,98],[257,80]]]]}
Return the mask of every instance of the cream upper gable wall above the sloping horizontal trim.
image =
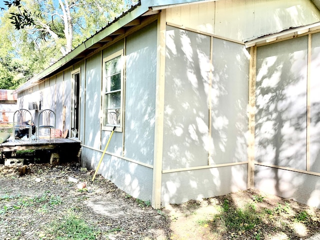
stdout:
{"type": "Polygon", "coordinates": [[[310,0],[218,0],[167,9],[167,21],[242,41],[320,20],[310,0]]]}

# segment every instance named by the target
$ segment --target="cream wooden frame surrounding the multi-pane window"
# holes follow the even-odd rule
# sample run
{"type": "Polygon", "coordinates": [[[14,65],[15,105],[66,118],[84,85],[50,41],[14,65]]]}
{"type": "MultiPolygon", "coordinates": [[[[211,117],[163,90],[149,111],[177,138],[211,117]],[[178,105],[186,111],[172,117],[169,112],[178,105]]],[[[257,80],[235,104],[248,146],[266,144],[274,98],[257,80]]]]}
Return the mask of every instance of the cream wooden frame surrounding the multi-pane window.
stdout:
{"type": "Polygon", "coordinates": [[[122,131],[122,125],[123,125],[123,79],[124,79],[124,54],[123,54],[123,49],[114,52],[113,54],[104,57],[103,61],[102,61],[102,130],[105,131],[112,131],[114,126],[115,126],[115,131],[122,131]],[[121,80],[120,80],[120,114],[119,114],[119,118],[120,118],[120,125],[117,124],[105,124],[106,122],[106,95],[109,94],[109,92],[105,91],[106,89],[106,84],[107,84],[107,75],[105,72],[105,64],[107,61],[112,60],[116,57],[120,56],[121,59],[121,80]]]}

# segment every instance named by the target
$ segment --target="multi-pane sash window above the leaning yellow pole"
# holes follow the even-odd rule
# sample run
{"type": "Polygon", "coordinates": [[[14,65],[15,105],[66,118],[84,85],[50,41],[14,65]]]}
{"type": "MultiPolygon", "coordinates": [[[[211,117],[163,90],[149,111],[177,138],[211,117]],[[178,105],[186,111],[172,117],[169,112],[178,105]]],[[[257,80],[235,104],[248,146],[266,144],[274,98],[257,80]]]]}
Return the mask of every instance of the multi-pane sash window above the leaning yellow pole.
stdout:
{"type": "Polygon", "coordinates": [[[122,127],[122,81],[123,81],[123,50],[103,59],[103,130],[116,130],[122,127]]]}

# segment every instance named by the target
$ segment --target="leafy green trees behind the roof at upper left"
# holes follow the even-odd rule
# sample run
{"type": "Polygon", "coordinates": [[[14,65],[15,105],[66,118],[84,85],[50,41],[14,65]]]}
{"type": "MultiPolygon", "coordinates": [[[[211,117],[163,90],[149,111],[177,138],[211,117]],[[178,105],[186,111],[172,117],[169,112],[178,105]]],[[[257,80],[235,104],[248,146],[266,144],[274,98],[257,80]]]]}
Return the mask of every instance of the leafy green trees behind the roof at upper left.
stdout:
{"type": "Polygon", "coordinates": [[[48,67],[134,0],[7,0],[0,17],[0,88],[48,67]]]}

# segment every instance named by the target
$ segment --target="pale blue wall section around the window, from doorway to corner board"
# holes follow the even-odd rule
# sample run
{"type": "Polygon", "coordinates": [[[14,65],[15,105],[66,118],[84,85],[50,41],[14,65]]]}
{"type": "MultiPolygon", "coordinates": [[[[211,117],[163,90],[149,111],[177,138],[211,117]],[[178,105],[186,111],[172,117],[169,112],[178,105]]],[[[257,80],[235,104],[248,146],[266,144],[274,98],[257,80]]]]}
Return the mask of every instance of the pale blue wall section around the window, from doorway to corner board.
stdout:
{"type": "Polygon", "coordinates": [[[83,165],[95,169],[110,135],[101,130],[99,117],[102,59],[125,48],[123,131],[113,133],[98,172],[143,200],[151,200],[152,195],[156,27],[156,22],[151,23],[108,46],[87,58],[85,67],[86,131],[81,159],[83,165]]]}

